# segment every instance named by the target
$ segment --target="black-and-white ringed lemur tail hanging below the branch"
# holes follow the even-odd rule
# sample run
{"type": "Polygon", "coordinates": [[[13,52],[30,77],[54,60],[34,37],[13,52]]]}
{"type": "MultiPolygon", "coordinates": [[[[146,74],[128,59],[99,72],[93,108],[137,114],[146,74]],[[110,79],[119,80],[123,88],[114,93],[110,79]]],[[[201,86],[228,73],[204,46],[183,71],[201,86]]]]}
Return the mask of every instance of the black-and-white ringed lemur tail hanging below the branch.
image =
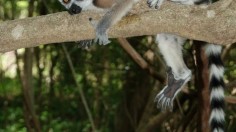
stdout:
{"type": "Polygon", "coordinates": [[[211,114],[209,123],[212,132],[224,132],[224,66],[221,60],[220,45],[207,44],[206,55],[209,58],[210,105],[211,114]]]}

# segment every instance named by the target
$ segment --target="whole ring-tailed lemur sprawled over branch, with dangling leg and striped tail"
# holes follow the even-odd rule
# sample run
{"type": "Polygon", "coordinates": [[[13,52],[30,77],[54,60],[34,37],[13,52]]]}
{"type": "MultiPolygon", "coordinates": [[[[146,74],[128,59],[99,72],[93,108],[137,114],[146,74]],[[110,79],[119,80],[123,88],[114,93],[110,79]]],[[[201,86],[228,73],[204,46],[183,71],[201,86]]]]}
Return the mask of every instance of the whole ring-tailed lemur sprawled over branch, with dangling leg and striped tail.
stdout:
{"type": "MultiPolygon", "coordinates": [[[[81,10],[105,9],[107,12],[96,24],[96,40],[105,45],[110,41],[107,30],[118,22],[138,0],[59,0],[71,14],[80,13],[81,10]]],[[[147,0],[150,7],[159,8],[164,0],[147,0]]],[[[210,4],[210,0],[171,0],[186,5],[210,4]]],[[[173,100],[181,88],[190,80],[191,71],[182,58],[182,45],[185,38],[171,35],[158,34],[156,42],[168,65],[167,86],[156,96],[156,102],[164,109],[172,109],[173,100]]],[[[207,44],[206,55],[209,58],[210,70],[210,104],[211,116],[209,123],[213,132],[224,131],[224,67],[220,58],[221,46],[207,44]]]]}

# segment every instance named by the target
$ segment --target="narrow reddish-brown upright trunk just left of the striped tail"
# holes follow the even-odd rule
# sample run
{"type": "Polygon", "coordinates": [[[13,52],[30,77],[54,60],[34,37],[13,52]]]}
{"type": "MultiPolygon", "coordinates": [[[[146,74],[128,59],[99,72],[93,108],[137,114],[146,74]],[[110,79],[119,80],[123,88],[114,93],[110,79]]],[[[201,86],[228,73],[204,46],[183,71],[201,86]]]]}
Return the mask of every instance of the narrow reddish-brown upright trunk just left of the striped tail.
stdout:
{"type": "Polygon", "coordinates": [[[209,91],[209,70],[208,60],[204,53],[203,42],[195,41],[196,46],[196,62],[197,62],[197,77],[196,77],[196,88],[198,89],[198,100],[199,100],[199,120],[198,120],[198,131],[209,132],[209,117],[210,117],[210,91],[209,91]]]}

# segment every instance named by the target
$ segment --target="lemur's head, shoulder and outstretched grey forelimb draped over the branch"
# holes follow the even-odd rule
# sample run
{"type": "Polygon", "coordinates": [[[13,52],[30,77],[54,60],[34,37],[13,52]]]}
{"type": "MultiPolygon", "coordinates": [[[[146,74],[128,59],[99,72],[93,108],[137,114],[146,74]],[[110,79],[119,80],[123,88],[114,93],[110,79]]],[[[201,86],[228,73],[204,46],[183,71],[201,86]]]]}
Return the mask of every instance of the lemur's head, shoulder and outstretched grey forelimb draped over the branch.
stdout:
{"type": "MultiPolygon", "coordinates": [[[[107,36],[108,29],[117,23],[138,0],[59,0],[70,14],[78,14],[82,10],[101,10],[106,14],[96,23],[90,19],[96,28],[95,43],[106,45],[110,43],[107,36]]],[[[85,46],[90,45],[85,41],[85,46]]]]}

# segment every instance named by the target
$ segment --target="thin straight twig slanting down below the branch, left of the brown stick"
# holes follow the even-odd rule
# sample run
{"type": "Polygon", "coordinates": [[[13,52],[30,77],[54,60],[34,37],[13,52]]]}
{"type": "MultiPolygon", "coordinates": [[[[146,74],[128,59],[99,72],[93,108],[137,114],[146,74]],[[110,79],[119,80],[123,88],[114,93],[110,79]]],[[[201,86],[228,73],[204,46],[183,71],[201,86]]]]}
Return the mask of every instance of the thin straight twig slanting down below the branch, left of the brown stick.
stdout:
{"type": "Polygon", "coordinates": [[[68,61],[68,64],[69,64],[69,67],[70,67],[70,70],[71,70],[71,73],[72,73],[72,77],[73,77],[73,79],[75,80],[76,87],[79,89],[80,98],[81,98],[81,100],[82,100],[82,103],[83,103],[84,108],[85,108],[85,110],[86,110],[86,113],[87,113],[87,115],[88,115],[89,121],[90,121],[90,123],[91,123],[91,125],[92,125],[93,132],[97,132],[97,129],[96,129],[96,127],[95,127],[92,114],[91,114],[91,112],[90,112],[88,103],[87,103],[86,98],[85,98],[84,91],[83,91],[83,89],[79,86],[79,83],[78,83],[78,81],[76,80],[76,72],[75,72],[75,69],[74,69],[74,65],[73,65],[73,63],[72,63],[72,61],[71,61],[71,57],[70,57],[70,55],[69,55],[69,53],[68,53],[68,51],[67,51],[67,49],[66,49],[66,47],[65,47],[65,44],[62,44],[62,48],[63,48],[63,51],[64,51],[64,53],[65,53],[65,55],[66,55],[66,58],[67,58],[67,61],[68,61]]]}

